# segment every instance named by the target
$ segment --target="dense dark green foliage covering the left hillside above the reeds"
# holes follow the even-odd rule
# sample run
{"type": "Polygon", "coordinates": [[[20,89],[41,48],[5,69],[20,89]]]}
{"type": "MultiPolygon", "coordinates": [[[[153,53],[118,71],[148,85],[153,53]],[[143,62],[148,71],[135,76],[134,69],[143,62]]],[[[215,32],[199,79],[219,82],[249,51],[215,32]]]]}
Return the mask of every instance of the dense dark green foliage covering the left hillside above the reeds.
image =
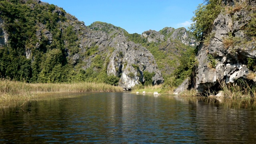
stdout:
{"type": "MultiPolygon", "coordinates": [[[[117,85],[117,76],[107,76],[106,61],[94,56],[92,66],[84,70],[83,62],[68,57],[94,55],[98,46],[79,49],[74,26],[67,24],[66,12],[53,4],[34,0],[0,1],[1,18],[8,33],[8,44],[0,48],[0,76],[24,82],[105,82],[117,85]],[[52,36],[50,35],[52,34],[52,36]]],[[[117,27],[114,27],[117,28],[117,27]]],[[[110,48],[111,49],[111,48],[110,48]]],[[[110,50],[111,51],[111,50],[110,50]]],[[[103,56],[106,58],[106,55],[103,56]]]]}

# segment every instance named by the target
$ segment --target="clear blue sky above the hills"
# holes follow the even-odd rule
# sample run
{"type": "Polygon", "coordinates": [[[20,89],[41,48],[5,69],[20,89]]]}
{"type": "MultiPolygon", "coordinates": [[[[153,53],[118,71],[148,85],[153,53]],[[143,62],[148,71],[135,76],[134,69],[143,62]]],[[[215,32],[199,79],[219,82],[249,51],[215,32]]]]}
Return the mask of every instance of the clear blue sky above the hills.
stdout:
{"type": "Polygon", "coordinates": [[[107,22],[130,34],[164,27],[187,28],[203,0],[41,0],[57,5],[84,21],[107,22]]]}

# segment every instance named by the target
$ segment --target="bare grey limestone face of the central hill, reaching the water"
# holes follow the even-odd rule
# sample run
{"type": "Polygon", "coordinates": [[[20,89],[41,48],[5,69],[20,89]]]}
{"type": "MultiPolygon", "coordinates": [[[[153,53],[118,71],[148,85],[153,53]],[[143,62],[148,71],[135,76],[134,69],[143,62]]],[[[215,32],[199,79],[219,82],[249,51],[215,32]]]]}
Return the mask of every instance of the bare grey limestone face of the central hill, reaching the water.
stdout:
{"type": "MultiPolygon", "coordinates": [[[[106,59],[109,59],[106,64],[107,74],[120,76],[118,85],[123,88],[131,89],[136,84],[143,84],[145,82],[144,71],[155,73],[155,76],[152,77],[152,84],[163,83],[164,79],[157,67],[154,56],[140,44],[128,41],[124,32],[121,28],[111,24],[95,22],[82,36],[81,43],[83,47],[89,47],[92,43],[99,44],[98,54],[108,53],[106,56],[106,59]],[[106,32],[99,31],[106,27],[108,27],[106,32]],[[106,49],[107,47],[112,48],[113,52],[109,52],[106,49]]],[[[87,62],[84,68],[90,67],[92,59],[84,60],[87,62]]]]}

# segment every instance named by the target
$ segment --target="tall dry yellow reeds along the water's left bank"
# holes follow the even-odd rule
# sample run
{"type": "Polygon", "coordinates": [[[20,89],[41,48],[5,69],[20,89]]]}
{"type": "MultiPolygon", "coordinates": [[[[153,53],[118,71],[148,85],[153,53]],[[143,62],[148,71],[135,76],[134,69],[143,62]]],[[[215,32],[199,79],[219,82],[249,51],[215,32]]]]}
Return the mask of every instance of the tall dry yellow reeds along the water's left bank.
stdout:
{"type": "Polygon", "coordinates": [[[0,102],[38,98],[39,94],[63,92],[122,92],[122,88],[92,82],[70,84],[30,84],[10,80],[0,80],[0,102]]]}

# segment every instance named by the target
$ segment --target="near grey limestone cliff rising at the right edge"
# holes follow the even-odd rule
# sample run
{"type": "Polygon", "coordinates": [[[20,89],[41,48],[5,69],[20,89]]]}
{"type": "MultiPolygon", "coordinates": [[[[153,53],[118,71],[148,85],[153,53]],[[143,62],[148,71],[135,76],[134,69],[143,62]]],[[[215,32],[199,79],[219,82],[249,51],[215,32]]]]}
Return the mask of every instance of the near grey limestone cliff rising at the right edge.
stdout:
{"type": "MultiPolygon", "coordinates": [[[[235,3],[240,6],[242,2],[244,1],[228,1],[226,5],[233,8],[235,3]]],[[[256,4],[248,1],[244,8],[219,14],[214,20],[214,36],[210,44],[200,44],[196,75],[198,92],[217,89],[221,81],[233,84],[237,79],[245,80],[249,73],[253,73],[247,64],[248,58],[256,59],[255,41],[246,36],[245,27],[252,19],[251,14],[254,11],[248,10],[248,6],[255,8],[256,4]]]]}

